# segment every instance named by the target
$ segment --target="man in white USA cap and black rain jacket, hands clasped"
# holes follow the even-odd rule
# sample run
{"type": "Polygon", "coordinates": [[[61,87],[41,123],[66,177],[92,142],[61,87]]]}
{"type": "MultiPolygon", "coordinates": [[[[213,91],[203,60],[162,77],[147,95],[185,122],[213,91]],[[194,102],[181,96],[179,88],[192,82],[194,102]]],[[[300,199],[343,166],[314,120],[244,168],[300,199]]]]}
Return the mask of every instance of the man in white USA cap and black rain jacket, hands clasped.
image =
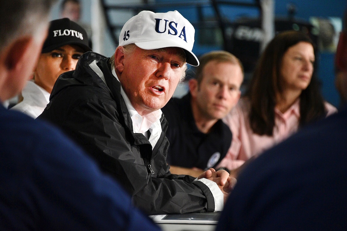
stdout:
{"type": "Polygon", "coordinates": [[[111,58],[87,52],[58,78],[40,119],[60,126],[118,179],[149,214],[223,209],[235,181],[209,169],[197,179],[166,164],[168,123],[162,108],[184,78],[194,27],[178,11],[142,11],[125,23],[111,58]]]}

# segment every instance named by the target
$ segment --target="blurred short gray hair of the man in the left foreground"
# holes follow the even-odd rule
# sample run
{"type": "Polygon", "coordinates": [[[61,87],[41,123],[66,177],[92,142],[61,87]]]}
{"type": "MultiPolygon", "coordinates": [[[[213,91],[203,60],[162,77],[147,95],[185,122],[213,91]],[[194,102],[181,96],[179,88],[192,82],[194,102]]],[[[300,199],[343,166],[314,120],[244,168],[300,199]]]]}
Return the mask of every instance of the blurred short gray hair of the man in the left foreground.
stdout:
{"type": "Polygon", "coordinates": [[[37,37],[49,23],[56,0],[0,0],[0,50],[26,35],[37,37]]]}

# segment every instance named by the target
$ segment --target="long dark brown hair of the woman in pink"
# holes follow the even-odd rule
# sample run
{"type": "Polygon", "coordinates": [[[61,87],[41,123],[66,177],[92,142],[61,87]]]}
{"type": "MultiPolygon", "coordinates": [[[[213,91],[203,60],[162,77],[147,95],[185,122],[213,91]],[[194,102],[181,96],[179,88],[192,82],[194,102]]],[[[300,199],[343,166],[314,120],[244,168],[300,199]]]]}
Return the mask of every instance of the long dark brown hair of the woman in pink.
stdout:
{"type": "MultiPolygon", "coordinates": [[[[250,125],[254,133],[272,135],[275,124],[276,95],[282,92],[280,69],[282,57],[289,47],[299,42],[315,45],[311,38],[297,31],[277,34],[266,46],[249,83],[246,96],[251,103],[250,125]]],[[[325,116],[324,100],[320,92],[320,83],[314,68],[308,87],[300,95],[299,126],[325,116]]]]}

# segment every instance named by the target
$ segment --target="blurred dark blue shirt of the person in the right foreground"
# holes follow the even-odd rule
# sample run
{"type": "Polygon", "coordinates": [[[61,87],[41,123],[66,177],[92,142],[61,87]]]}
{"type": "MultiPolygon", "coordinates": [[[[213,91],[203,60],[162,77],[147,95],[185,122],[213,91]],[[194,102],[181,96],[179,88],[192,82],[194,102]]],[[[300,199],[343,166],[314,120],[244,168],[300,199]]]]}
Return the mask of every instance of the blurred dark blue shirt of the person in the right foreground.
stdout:
{"type": "Polygon", "coordinates": [[[346,192],[345,108],[249,163],[217,230],[347,230],[346,192]]]}

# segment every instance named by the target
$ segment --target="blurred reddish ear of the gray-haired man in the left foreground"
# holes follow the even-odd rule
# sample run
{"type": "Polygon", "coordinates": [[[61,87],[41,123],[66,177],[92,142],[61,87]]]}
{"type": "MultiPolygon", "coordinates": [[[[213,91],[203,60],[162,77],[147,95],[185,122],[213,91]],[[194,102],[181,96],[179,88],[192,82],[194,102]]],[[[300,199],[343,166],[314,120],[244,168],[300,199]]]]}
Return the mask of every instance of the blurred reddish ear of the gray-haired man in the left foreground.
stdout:
{"type": "Polygon", "coordinates": [[[33,39],[34,38],[30,36],[19,38],[9,46],[6,53],[4,54],[4,63],[8,71],[13,72],[16,70],[20,70],[22,65],[25,65],[26,61],[23,59],[25,57],[26,52],[28,52],[28,47],[31,43],[33,43],[33,39]]]}

